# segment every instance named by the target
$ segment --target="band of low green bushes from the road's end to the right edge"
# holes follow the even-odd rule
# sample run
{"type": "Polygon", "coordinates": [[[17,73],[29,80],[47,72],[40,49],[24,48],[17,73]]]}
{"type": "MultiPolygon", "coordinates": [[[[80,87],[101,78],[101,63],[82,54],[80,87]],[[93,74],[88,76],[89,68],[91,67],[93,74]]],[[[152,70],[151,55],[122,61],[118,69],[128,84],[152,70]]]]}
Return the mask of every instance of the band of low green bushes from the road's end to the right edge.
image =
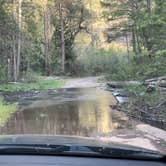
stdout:
{"type": "Polygon", "coordinates": [[[107,79],[115,81],[145,80],[152,77],[165,75],[166,58],[155,57],[149,59],[142,56],[128,57],[126,52],[115,51],[115,49],[89,50],[77,60],[73,69],[77,75],[99,75],[106,74],[107,79]]]}

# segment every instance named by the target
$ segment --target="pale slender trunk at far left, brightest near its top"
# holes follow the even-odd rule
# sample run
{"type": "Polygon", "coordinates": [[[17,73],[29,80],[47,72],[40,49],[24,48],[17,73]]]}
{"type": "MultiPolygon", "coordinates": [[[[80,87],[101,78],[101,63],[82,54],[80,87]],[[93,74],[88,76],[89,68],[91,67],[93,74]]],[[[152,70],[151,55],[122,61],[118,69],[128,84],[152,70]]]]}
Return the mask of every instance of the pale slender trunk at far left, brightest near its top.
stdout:
{"type": "Polygon", "coordinates": [[[16,69],[16,80],[18,80],[20,75],[20,56],[21,56],[21,30],[22,30],[22,0],[19,0],[18,4],[18,26],[19,26],[19,32],[18,32],[18,52],[17,52],[17,69],[16,69]]]}

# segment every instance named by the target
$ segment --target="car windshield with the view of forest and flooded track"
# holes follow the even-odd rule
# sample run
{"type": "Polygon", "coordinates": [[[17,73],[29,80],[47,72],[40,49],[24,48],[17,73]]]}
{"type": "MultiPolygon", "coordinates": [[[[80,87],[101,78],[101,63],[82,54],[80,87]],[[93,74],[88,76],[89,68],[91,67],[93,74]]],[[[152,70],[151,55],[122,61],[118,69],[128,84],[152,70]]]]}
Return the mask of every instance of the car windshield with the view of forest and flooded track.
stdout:
{"type": "Polygon", "coordinates": [[[1,0],[0,146],[166,154],[165,8],[164,0],[1,0]]]}

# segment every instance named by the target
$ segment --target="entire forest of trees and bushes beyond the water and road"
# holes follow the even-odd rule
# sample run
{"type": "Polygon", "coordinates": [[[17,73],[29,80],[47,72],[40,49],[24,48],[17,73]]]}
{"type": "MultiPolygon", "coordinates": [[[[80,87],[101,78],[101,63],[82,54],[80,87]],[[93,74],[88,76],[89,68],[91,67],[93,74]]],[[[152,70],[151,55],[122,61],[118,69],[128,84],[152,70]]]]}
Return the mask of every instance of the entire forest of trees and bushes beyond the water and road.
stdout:
{"type": "Polygon", "coordinates": [[[165,8],[165,0],[0,0],[0,82],[162,76],[165,8]]]}

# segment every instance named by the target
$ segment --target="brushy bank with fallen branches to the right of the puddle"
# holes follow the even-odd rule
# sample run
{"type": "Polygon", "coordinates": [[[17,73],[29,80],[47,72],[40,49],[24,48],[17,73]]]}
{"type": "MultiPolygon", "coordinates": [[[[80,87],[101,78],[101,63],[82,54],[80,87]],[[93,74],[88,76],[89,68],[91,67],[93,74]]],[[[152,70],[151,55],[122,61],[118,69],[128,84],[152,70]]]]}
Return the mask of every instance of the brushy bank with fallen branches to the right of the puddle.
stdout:
{"type": "Polygon", "coordinates": [[[120,110],[129,117],[150,123],[165,130],[166,128],[166,94],[160,90],[147,91],[145,86],[125,88],[130,92],[129,102],[120,105],[120,110]]]}

